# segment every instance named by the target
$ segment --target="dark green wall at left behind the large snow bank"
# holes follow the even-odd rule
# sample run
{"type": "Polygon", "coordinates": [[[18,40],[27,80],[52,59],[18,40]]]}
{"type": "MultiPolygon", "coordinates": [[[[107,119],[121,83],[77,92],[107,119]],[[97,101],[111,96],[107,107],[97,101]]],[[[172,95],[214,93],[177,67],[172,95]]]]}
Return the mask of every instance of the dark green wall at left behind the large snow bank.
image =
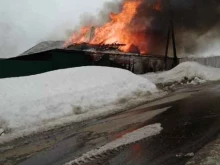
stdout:
{"type": "Polygon", "coordinates": [[[0,78],[28,76],[57,69],[92,65],[88,55],[77,51],[52,50],[0,60],[0,78]]]}

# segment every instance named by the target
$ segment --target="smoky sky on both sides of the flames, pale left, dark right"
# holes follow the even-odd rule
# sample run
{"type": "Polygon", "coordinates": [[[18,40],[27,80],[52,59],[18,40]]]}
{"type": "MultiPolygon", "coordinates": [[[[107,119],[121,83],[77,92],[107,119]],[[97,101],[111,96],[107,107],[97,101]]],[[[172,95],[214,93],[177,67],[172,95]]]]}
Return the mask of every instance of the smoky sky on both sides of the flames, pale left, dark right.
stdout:
{"type": "MultiPolygon", "coordinates": [[[[132,0],[0,0],[0,58],[17,56],[41,41],[66,40],[78,26],[99,26],[109,19],[110,12],[120,11],[120,1],[132,0]]],[[[142,0],[134,21],[143,25],[148,22],[143,19],[150,18],[151,24],[146,26],[163,31],[160,41],[166,36],[170,12],[168,0],[161,0],[162,12],[146,11],[146,3],[157,1],[142,0]]],[[[175,12],[177,49],[184,55],[220,55],[220,1],[169,2],[175,12]]],[[[163,44],[153,40],[156,47],[151,47],[163,50],[163,44]]]]}

